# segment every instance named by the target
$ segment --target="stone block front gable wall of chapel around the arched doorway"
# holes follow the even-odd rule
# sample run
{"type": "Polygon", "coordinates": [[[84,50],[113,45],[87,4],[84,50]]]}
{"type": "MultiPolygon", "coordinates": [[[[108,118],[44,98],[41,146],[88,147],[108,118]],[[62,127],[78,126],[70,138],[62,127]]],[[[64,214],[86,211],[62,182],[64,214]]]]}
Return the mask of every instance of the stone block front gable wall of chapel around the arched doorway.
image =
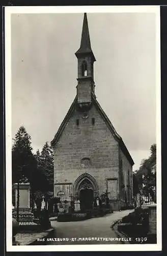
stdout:
{"type": "MultiPolygon", "coordinates": [[[[76,110],[72,113],[58,143],[54,148],[54,184],[74,183],[83,173],[92,175],[98,183],[99,194],[106,191],[106,179],[119,179],[119,154],[118,142],[109,131],[104,120],[92,106],[91,110],[83,117],[83,113],[76,110]],[[92,124],[92,118],[95,124],[92,124]],[[79,120],[79,125],[76,120],[79,120]],[[90,158],[84,161],[83,158],[90,158]]],[[[109,181],[109,186],[112,186],[109,181]]],[[[66,190],[72,193],[71,188],[66,190]]],[[[57,196],[61,186],[54,185],[54,196],[57,196]]],[[[68,185],[69,186],[69,185],[68,185]]],[[[119,186],[113,181],[113,186],[119,186]]],[[[116,197],[116,194],[114,197],[116,197]]],[[[109,198],[113,195],[108,194],[109,198]]],[[[69,198],[68,198],[69,199],[69,198]]]]}

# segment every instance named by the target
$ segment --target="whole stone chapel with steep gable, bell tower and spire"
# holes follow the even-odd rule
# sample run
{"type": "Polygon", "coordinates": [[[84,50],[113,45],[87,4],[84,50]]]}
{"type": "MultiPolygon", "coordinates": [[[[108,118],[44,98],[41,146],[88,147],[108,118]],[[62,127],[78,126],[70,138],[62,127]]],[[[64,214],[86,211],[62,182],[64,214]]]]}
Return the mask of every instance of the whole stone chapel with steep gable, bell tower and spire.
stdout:
{"type": "MultiPolygon", "coordinates": [[[[91,209],[98,197],[119,210],[133,203],[132,166],[126,145],[96,99],[94,62],[87,14],[80,48],[75,52],[76,97],[51,145],[54,150],[54,197],[79,200],[91,209]]],[[[105,84],[103,84],[105,87],[105,84]]]]}

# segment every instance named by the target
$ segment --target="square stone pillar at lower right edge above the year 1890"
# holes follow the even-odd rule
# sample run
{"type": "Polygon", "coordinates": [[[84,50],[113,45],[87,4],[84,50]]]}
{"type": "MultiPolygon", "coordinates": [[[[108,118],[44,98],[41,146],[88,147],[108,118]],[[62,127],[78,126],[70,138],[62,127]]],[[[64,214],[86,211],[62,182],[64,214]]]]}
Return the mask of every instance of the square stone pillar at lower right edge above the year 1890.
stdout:
{"type": "Polygon", "coordinates": [[[152,243],[156,243],[157,220],[156,220],[156,204],[148,205],[149,209],[149,231],[148,236],[152,243]]]}

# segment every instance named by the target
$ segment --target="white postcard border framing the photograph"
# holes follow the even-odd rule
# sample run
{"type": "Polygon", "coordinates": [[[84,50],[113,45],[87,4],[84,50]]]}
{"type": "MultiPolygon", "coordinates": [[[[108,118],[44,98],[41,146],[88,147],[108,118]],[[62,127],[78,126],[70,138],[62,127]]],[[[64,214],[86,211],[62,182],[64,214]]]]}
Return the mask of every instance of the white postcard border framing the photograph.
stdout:
{"type": "Polygon", "coordinates": [[[6,87],[6,241],[7,251],[160,251],[161,223],[161,105],[159,6],[8,6],[5,7],[6,87]],[[12,13],[155,13],[156,14],[156,143],[157,143],[157,244],[111,245],[12,245],[12,133],[11,133],[11,14],[12,13]]]}

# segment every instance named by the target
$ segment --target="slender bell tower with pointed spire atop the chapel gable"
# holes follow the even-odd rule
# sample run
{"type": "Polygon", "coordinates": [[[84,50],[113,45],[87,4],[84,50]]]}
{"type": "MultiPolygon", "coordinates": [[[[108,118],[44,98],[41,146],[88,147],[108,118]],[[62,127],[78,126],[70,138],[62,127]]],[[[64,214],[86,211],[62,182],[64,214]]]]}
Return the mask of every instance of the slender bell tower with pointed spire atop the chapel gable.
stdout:
{"type": "Polygon", "coordinates": [[[80,48],[75,55],[78,59],[77,102],[82,107],[91,104],[92,93],[95,93],[93,64],[96,59],[91,49],[86,13],[84,13],[80,48]]]}

